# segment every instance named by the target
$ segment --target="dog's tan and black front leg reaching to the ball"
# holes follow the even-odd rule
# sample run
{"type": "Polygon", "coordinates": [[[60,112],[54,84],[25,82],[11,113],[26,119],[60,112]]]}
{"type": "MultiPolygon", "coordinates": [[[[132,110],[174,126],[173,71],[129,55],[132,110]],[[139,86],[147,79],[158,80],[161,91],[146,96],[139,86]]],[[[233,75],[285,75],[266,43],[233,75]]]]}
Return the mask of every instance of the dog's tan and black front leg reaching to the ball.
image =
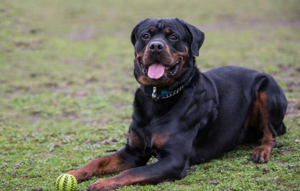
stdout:
{"type": "Polygon", "coordinates": [[[134,148],[126,145],[118,152],[91,160],[84,167],[67,172],[78,182],[89,179],[92,176],[116,173],[122,170],[146,165],[151,155],[137,153],[134,148]]]}

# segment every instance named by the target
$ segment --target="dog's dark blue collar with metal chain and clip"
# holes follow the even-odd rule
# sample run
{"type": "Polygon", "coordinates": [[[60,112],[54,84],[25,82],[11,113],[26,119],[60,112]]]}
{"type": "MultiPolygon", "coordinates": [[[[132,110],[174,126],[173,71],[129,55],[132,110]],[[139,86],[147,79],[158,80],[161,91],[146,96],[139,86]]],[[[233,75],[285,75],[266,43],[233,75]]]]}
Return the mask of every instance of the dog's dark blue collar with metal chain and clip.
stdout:
{"type": "Polygon", "coordinates": [[[178,94],[186,85],[188,85],[191,81],[192,77],[189,78],[188,83],[179,87],[176,90],[169,91],[166,89],[160,89],[153,86],[144,86],[140,84],[140,89],[145,93],[146,96],[151,96],[155,101],[159,99],[165,99],[171,97],[173,95],[178,94]]]}

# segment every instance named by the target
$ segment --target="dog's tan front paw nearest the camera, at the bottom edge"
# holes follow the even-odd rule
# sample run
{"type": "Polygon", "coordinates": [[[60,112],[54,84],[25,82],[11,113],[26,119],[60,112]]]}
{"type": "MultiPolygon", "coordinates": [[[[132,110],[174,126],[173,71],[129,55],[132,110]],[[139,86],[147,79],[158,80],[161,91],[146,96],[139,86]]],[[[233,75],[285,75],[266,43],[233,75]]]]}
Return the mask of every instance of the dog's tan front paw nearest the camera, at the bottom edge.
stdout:
{"type": "Polygon", "coordinates": [[[91,184],[86,191],[108,191],[118,188],[120,185],[112,179],[99,179],[91,184]]]}

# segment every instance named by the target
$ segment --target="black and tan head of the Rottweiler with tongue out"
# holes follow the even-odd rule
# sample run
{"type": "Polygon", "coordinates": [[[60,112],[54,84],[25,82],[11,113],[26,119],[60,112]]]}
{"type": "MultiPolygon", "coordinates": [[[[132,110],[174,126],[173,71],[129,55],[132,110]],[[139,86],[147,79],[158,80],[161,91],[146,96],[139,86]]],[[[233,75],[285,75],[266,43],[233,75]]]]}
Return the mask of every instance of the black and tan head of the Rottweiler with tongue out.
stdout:
{"type": "Polygon", "coordinates": [[[144,19],[135,26],[135,77],[147,86],[168,86],[190,67],[198,56],[204,33],[178,18],[144,19]]]}

